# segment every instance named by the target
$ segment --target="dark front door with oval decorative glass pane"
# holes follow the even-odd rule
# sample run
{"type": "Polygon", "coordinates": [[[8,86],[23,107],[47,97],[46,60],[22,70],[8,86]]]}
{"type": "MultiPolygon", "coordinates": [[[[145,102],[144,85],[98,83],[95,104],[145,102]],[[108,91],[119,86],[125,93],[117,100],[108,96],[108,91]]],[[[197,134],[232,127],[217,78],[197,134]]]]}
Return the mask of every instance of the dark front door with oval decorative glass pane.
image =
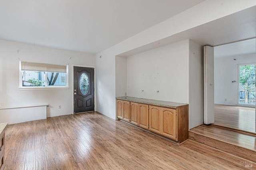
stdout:
{"type": "Polygon", "coordinates": [[[74,113],[94,111],[94,68],[74,66],[74,113]]]}

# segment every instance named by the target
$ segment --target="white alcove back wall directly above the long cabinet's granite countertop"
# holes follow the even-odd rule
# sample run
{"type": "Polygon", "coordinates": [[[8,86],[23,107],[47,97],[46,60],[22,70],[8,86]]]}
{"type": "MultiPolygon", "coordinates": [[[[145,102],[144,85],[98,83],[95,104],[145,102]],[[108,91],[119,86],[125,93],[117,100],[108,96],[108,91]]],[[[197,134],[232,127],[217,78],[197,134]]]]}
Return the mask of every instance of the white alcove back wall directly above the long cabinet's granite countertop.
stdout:
{"type": "Polygon", "coordinates": [[[127,96],[188,104],[188,40],[128,57],[127,96]]]}

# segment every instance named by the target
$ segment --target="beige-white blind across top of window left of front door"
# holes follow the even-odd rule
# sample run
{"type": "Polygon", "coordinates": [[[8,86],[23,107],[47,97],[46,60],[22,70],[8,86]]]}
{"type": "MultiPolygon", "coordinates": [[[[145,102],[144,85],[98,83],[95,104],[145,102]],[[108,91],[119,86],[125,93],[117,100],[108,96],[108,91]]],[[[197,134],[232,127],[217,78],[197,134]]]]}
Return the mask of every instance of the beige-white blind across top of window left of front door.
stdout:
{"type": "Polygon", "coordinates": [[[22,71],[67,72],[67,67],[55,64],[21,62],[22,71]]]}

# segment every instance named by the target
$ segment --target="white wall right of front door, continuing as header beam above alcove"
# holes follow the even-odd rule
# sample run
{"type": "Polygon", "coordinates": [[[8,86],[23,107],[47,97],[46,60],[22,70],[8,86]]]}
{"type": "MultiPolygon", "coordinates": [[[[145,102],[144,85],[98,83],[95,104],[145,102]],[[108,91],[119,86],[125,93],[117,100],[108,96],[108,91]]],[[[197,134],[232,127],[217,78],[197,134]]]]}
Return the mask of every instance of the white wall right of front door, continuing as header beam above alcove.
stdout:
{"type": "MultiPolygon", "coordinates": [[[[96,110],[116,119],[116,56],[255,5],[255,0],[246,0],[246,3],[239,0],[236,0],[236,3],[234,0],[206,0],[98,53],[96,55],[96,110]],[[100,55],[102,59],[99,59],[100,55]]],[[[201,68],[198,69],[201,70],[201,68]]],[[[190,117],[193,117],[193,114],[190,117]]]]}

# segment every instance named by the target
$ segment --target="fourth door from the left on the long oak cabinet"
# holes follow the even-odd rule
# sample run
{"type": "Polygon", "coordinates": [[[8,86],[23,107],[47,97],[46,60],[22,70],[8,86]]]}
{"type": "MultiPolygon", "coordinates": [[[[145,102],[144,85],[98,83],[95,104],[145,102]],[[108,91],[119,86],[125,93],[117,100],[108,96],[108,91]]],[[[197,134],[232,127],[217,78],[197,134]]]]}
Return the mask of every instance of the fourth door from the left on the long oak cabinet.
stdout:
{"type": "Polygon", "coordinates": [[[139,126],[148,129],[148,105],[139,104],[139,126]]]}

